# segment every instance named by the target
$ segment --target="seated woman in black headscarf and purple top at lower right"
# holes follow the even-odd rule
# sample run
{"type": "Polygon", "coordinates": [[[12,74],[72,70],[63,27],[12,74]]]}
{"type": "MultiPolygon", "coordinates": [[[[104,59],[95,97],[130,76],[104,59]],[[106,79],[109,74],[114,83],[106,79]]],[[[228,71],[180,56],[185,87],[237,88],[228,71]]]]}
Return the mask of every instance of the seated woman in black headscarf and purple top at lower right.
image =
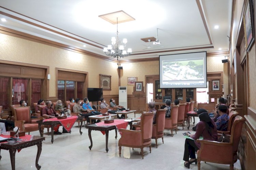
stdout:
{"type": "Polygon", "coordinates": [[[188,134],[187,136],[192,139],[185,140],[185,149],[183,160],[185,161],[184,166],[189,168],[192,163],[197,164],[195,151],[200,149],[201,144],[197,143],[196,140],[202,135],[204,140],[217,141],[217,127],[214,121],[209,117],[207,110],[199,109],[197,111],[200,122],[197,124],[196,134],[188,134]],[[191,158],[189,160],[189,157],[191,158]]]}

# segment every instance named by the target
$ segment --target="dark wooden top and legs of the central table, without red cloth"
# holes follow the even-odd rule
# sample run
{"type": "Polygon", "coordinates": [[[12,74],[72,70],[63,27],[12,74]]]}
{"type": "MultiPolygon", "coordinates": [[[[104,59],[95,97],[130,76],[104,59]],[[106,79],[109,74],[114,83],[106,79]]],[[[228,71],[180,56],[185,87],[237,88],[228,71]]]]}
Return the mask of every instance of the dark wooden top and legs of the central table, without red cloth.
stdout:
{"type": "MultiPolygon", "coordinates": [[[[130,130],[132,128],[132,121],[128,122],[128,125],[130,125],[130,130]]],[[[108,141],[109,141],[109,131],[110,130],[114,130],[116,131],[116,136],[115,138],[117,138],[117,129],[116,126],[112,125],[112,126],[97,126],[96,124],[92,124],[92,125],[86,125],[86,128],[88,128],[88,136],[91,142],[91,145],[89,146],[89,149],[91,150],[91,148],[93,148],[93,139],[91,139],[91,130],[99,130],[99,131],[105,131],[105,135],[106,135],[106,152],[108,153],[109,149],[108,149],[108,141]]]]}

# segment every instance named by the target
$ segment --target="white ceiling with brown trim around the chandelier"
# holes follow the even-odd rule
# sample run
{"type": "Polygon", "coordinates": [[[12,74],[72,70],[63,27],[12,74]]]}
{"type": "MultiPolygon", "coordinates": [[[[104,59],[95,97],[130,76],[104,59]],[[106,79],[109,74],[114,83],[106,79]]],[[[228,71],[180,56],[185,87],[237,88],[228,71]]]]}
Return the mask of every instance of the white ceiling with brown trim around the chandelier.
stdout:
{"type": "Polygon", "coordinates": [[[184,49],[215,52],[218,48],[227,51],[231,3],[231,0],[1,0],[0,18],[7,21],[0,20],[0,26],[105,56],[102,48],[111,43],[116,25],[98,16],[123,10],[136,19],[118,24],[119,37],[127,38],[126,48],[133,51],[124,59],[157,57],[182,49],[182,52],[184,49]],[[219,29],[214,29],[215,25],[219,29]],[[147,49],[149,43],[140,39],[156,37],[156,28],[161,45],[151,42],[153,48],[147,49]]]}

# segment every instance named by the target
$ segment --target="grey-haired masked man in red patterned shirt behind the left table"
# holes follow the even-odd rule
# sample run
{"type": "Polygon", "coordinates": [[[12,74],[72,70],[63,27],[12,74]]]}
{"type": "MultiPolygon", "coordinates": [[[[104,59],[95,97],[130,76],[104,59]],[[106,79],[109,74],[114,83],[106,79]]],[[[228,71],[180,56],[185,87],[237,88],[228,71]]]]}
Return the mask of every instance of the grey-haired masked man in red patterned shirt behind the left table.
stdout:
{"type": "MultiPolygon", "coordinates": [[[[59,113],[57,113],[54,109],[53,109],[53,103],[52,101],[46,101],[46,106],[42,109],[42,115],[45,117],[49,117],[49,118],[55,118],[60,116],[59,113]]],[[[59,132],[59,126],[57,125],[56,127],[54,127],[54,135],[61,135],[62,133],[68,133],[67,130],[63,127],[62,128],[62,133],[59,132]]]]}

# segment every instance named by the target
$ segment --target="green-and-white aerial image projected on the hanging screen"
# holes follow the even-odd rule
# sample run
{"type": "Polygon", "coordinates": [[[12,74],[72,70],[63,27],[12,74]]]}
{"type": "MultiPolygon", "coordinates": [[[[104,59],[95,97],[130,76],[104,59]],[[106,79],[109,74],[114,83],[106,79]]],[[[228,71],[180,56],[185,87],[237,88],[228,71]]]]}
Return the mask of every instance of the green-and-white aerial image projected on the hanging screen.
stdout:
{"type": "Polygon", "coordinates": [[[203,59],[163,61],[162,72],[163,81],[203,80],[203,59]]]}

